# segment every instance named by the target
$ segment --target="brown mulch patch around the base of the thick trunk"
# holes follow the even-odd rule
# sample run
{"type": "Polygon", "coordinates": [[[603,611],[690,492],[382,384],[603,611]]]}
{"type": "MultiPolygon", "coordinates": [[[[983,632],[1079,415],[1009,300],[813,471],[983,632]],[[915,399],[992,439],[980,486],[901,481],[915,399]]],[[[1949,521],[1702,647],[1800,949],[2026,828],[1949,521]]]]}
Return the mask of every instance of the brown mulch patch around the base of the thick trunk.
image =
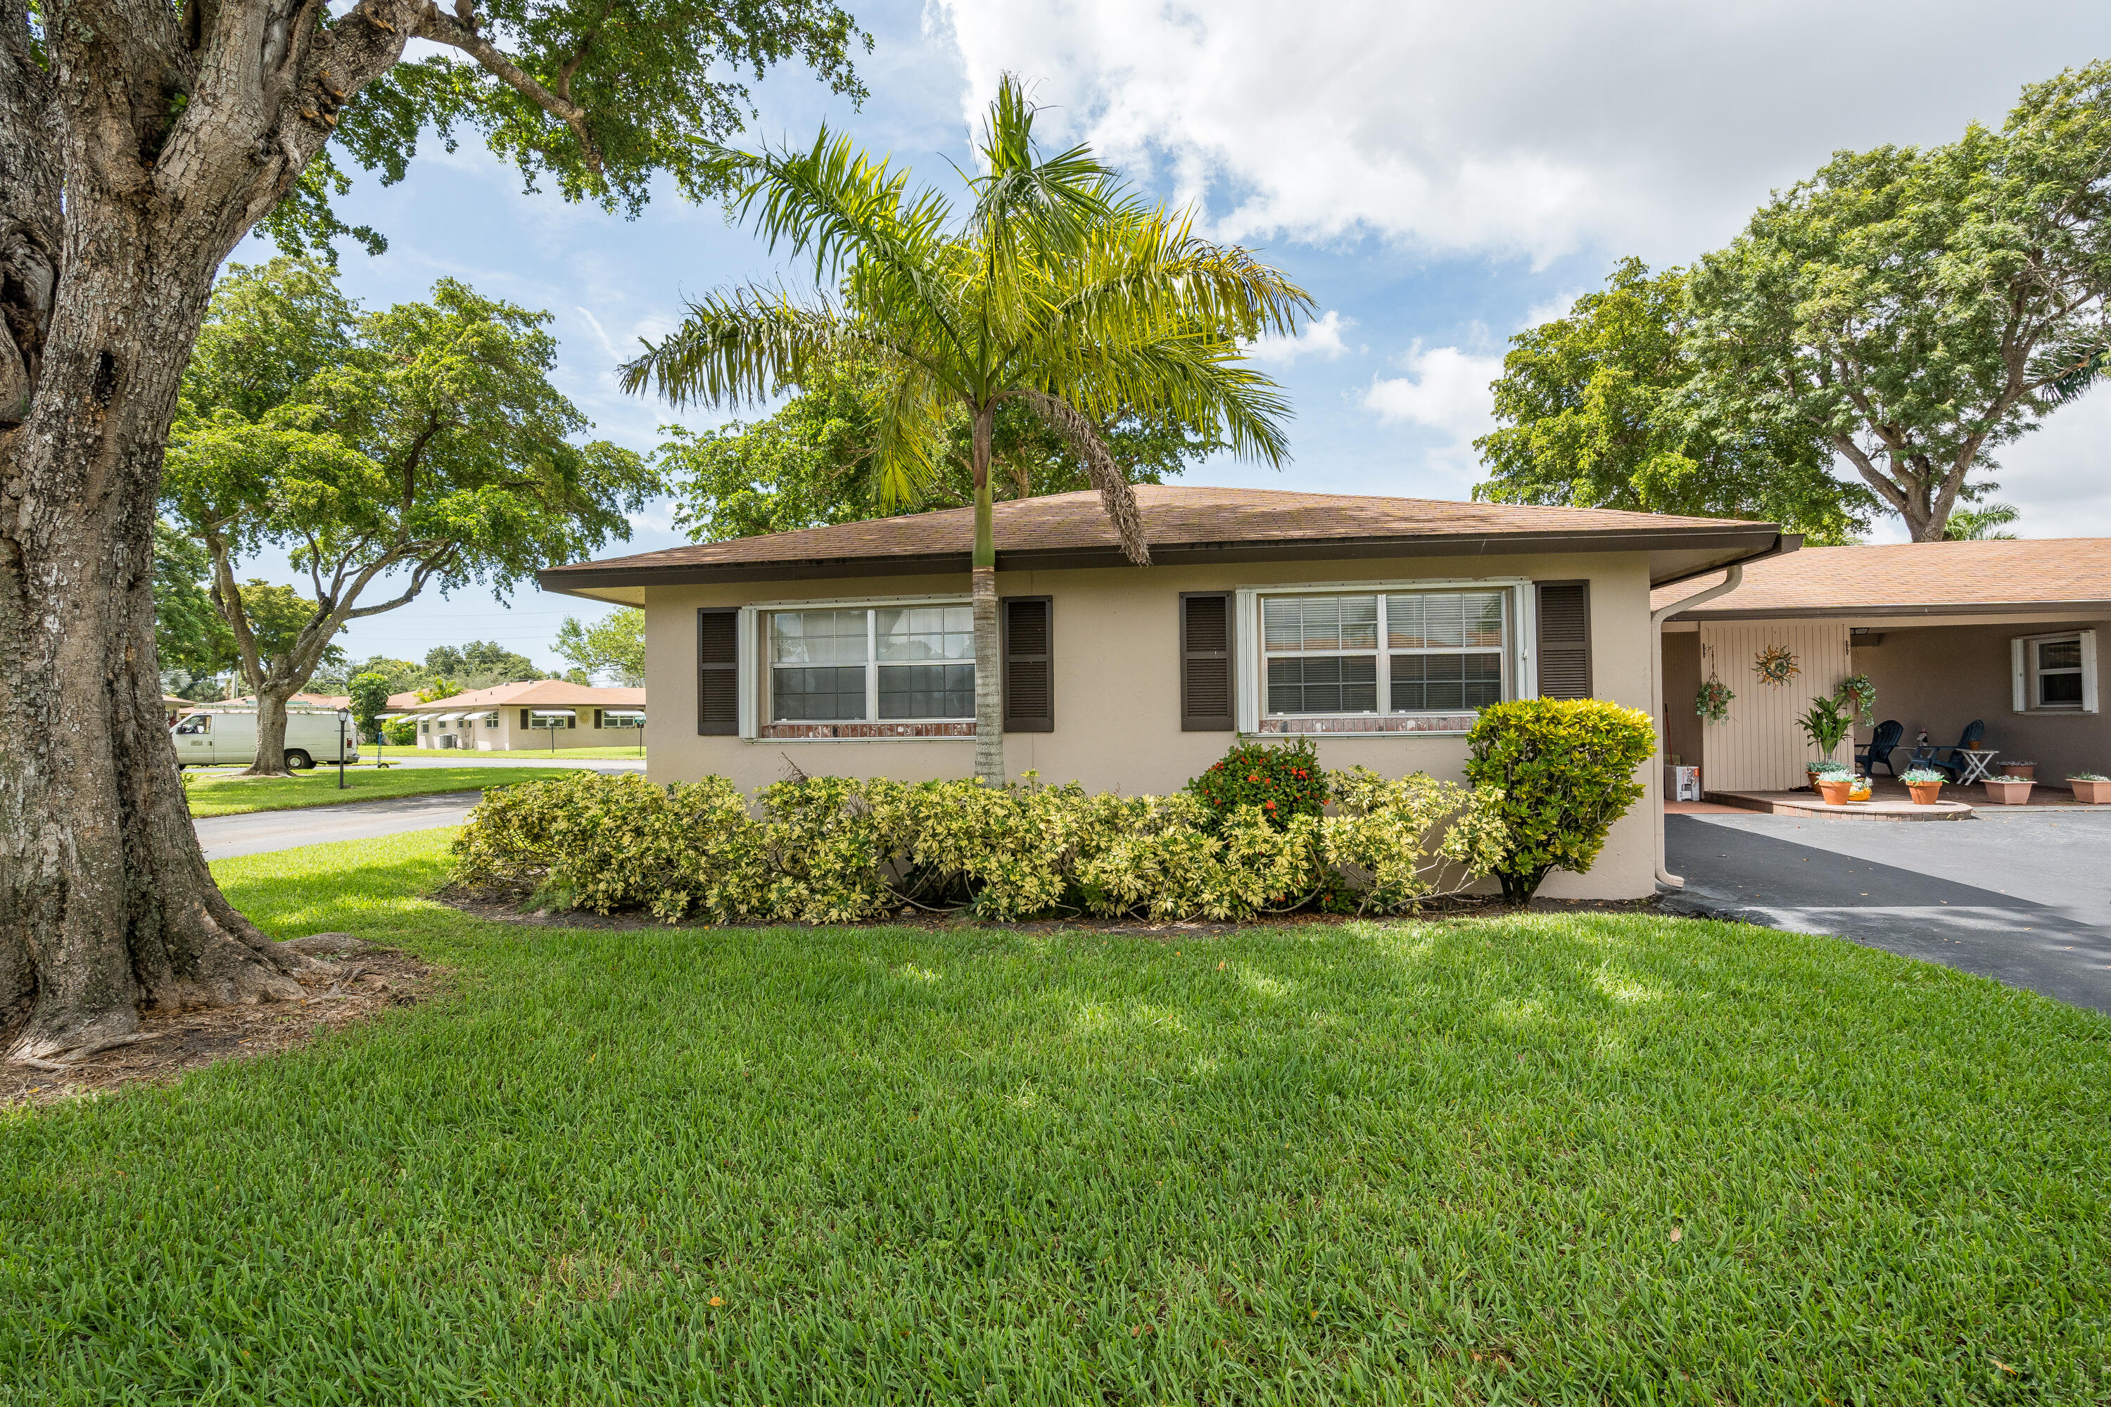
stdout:
{"type": "Polygon", "coordinates": [[[422,1002],[445,977],[443,968],[388,947],[344,941],[327,949],[336,951],[315,956],[323,956],[331,970],[302,977],[308,996],[300,1002],[144,1013],[139,1036],[148,1040],[137,1044],[89,1055],[65,1069],[0,1063],[0,1110],[103,1095],[127,1084],[167,1084],[201,1065],[279,1055],[422,1002]]]}

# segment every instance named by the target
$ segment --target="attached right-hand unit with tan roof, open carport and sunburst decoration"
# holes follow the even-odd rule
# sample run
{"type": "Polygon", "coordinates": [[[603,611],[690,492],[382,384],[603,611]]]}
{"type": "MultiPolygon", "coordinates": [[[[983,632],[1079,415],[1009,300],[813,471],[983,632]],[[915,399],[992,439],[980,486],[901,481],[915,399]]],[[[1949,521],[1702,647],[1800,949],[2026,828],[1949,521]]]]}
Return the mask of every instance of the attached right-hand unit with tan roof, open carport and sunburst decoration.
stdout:
{"type": "MultiPolygon", "coordinates": [[[[1718,580],[1657,591],[1657,605],[1718,580]]],[[[1666,751],[1699,764],[1708,791],[1799,787],[1818,749],[1796,715],[1813,694],[1866,673],[1877,721],[1904,724],[1900,770],[1917,734],[1951,747],[1978,719],[1989,747],[2035,762],[2039,785],[2062,787],[2069,772],[2111,772],[2105,629],[2111,538],[1807,546],[1748,565],[1735,591],[1666,622],[1666,751]],[[1752,673],[1769,645],[1799,660],[1784,686],[1752,673]],[[1720,724],[1693,711],[1710,671],[1737,694],[1720,724]]],[[[1856,730],[1858,743],[1868,736],[1856,730]]]]}

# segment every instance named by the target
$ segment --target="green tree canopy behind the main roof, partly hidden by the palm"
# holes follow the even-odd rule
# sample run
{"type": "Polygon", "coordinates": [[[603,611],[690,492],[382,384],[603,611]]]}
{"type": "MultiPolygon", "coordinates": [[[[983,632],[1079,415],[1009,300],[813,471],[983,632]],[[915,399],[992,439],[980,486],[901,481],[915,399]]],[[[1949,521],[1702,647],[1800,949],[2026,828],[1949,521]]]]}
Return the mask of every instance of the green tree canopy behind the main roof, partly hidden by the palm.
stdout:
{"type": "MultiPolygon", "coordinates": [[[[889,498],[876,473],[887,388],[887,367],[870,356],[825,359],[762,420],[703,432],[661,426],[657,460],[676,494],[676,523],[697,542],[718,542],[973,504],[975,426],[958,405],[944,407],[931,479],[912,500],[889,498]]],[[[1224,447],[1134,411],[1098,430],[1127,483],[1163,483],[1224,447]]],[[[999,500],[1093,487],[1077,449],[1018,401],[996,405],[990,470],[999,500]]]]}

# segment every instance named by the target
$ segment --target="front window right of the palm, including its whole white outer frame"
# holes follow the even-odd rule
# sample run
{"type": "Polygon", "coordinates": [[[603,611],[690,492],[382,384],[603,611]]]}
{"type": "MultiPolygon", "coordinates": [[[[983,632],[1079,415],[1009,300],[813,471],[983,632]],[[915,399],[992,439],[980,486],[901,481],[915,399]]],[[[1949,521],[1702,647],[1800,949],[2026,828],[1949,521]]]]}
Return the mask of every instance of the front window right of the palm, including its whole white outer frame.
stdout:
{"type": "Polygon", "coordinates": [[[1526,692],[1520,582],[1241,591],[1248,732],[1465,732],[1526,692]]]}

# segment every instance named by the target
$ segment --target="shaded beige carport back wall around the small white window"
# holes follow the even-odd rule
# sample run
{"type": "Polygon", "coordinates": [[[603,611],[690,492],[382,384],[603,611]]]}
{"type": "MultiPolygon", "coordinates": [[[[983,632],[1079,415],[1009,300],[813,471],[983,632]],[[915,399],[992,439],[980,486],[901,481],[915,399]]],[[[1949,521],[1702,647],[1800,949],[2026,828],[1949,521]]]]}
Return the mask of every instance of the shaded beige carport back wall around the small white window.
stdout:
{"type": "MultiPolygon", "coordinates": [[[[2016,713],[2010,692],[2010,641],[2060,631],[2096,631],[2103,673],[2111,620],[1883,627],[1883,643],[1858,648],[1853,664],[1877,686],[1877,719],[1906,726],[1906,749],[1923,730],[1936,747],[1951,747],[1972,719],[1984,719],[1986,747],[2035,762],[2041,787],[2062,787],[2069,772],[2111,774],[2111,715],[2016,713]]],[[[2103,686],[2098,679],[2098,698],[2107,698],[2103,686]]],[[[1866,743],[1868,734],[1858,728],[1856,743],[1866,743]]],[[[1904,753],[1898,764],[1904,768],[1904,753]]]]}

